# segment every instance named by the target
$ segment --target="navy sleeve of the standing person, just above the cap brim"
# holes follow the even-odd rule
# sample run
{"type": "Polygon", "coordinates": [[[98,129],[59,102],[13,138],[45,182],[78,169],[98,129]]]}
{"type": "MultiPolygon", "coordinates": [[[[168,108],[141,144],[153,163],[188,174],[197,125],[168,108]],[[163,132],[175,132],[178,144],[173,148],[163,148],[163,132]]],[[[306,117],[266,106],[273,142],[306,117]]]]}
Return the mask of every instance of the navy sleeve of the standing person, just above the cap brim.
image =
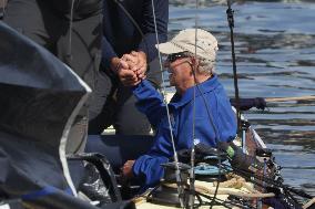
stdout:
{"type": "MultiPolygon", "coordinates": [[[[154,11],[159,42],[162,43],[167,40],[169,0],[155,0],[154,11]]],[[[158,56],[158,51],[155,49],[155,27],[151,1],[144,1],[143,22],[141,27],[143,30],[144,38],[139,44],[139,50],[143,51],[148,55],[149,62],[151,62],[158,56]]]]}

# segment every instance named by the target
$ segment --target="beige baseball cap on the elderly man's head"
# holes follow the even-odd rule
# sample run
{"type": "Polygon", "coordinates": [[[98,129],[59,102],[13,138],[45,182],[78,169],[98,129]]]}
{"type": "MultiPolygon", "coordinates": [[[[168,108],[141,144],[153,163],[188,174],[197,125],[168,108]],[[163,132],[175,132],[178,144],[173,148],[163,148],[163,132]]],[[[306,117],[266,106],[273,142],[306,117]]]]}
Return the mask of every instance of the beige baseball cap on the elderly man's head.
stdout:
{"type": "Polygon", "coordinates": [[[158,50],[163,54],[173,54],[179,52],[187,51],[192,54],[214,62],[217,48],[217,41],[210,32],[202,29],[185,29],[180,31],[171,41],[155,45],[158,50]],[[196,32],[196,43],[195,43],[196,32]]]}

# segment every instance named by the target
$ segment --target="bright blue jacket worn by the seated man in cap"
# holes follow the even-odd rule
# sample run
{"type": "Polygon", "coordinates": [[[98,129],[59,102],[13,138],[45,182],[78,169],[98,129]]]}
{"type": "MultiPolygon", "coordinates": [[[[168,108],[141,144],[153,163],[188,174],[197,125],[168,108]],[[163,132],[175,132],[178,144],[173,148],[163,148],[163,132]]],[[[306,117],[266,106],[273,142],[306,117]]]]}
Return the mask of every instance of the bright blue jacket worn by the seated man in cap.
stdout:
{"type": "MultiPolygon", "coordinates": [[[[217,140],[233,140],[236,135],[235,116],[217,76],[199,86],[203,96],[196,90],[195,138],[212,147],[216,146],[217,140]],[[216,128],[212,127],[209,114],[212,115],[216,128]],[[217,134],[214,129],[217,129],[217,134]]],[[[193,92],[191,87],[182,96],[175,94],[169,104],[176,150],[191,148],[193,144],[193,92]]],[[[144,187],[151,187],[158,184],[163,176],[160,165],[173,156],[169,119],[162,96],[150,82],[143,81],[134,87],[133,93],[139,100],[139,109],[149,117],[152,125],[158,127],[151,150],[139,157],[133,166],[134,175],[143,178],[144,187]]]]}

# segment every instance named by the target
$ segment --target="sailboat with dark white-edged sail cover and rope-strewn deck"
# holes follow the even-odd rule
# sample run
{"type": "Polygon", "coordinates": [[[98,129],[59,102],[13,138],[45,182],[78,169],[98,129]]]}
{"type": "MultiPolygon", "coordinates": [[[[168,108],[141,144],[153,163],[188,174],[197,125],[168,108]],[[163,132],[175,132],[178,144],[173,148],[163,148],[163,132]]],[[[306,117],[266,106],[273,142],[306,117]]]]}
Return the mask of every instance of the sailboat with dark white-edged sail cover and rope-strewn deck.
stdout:
{"type": "MultiPolygon", "coordinates": [[[[170,199],[174,197],[173,200],[171,199],[172,201],[166,203],[155,201],[161,197],[156,197],[156,192],[154,194],[160,189],[159,187],[123,203],[120,195],[116,194],[118,185],[113,179],[103,180],[108,188],[113,188],[109,191],[113,194],[113,202],[119,202],[118,205],[104,203],[102,202],[103,199],[98,198],[91,201],[91,198],[87,197],[83,200],[84,198],[77,194],[70,177],[64,144],[73,117],[87,100],[90,88],[48,51],[19,35],[3,23],[0,23],[0,36],[1,40],[7,40],[0,44],[0,109],[2,111],[0,117],[0,200],[2,202],[0,208],[132,208],[134,207],[133,203],[136,208],[186,207],[185,205],[181,206],[180,200],[184,199],[182,197],[185,196],[185,192],[179,194],[176,184],[166,185],[169,190],[162,190],[159,194],[162,196],[164,194],[170,199]],[[16,51],[16,49],[22,48],[23,50],[16,51]],[[29,56],[38,62],[33,62],[34,65],[26,65],[29,56]],[[40,114],[40,117],[37,117],[38,114],[40,114]],[[62,115],[62,117],[53,117],[54,115],[62,115]],[[38,121],[38,118],[41,119],[38,121]],[[57,125],[52,126],[52,124],[57,125]]],[[[207,178],[207,180],[196,181],[193,190],[189,190],[187,199],[192,194],[195,198],[190,207],[260,208],[263,207],[263,198],[278,196],[282,206],[299,208],[301,203],[296,202],[291,194],[298,195],[302,191],[296,191],[282,184],[277,165],[257,133],[240,114],[240,104],[241,100],[235,105],[240,124],[244,124],[243,135],[238,140],[240,146],[244,153],[261,156],[263,161],[271,161],[273,168],[275,168],[273,179],[264,177],[264,175],[265,179],[262,179],[262,176],[258,175],[248,176],[248,174],[242,174],[241,170],[238,175],[241,177],[243,175],[244,180],[252,181],[252,185],[247,188],[248,191],[222,189],[220,185],[223,186],[224,184],[220,181],[223,180],[223,175],[233,171],[231,165],[221,161],[221,154],[213,151],[214,155],[204,156],[205,160],[213,163],[211,165],[213,167],[210,167],[211,173],[206,175],[202,173],[206,170],[206,165],[200,167],[199,174],[195,170],[196,175],[200,175],[203,179],[207,178]],[[262,191],[262,188],[266,189],[267,187],[273,190],[262,191]]],[[[102,137],[110,138],[113,136],[102,137]]],[[[209,150],[206,154],[211,151],[209,150]]],[[[104,167],[109,168],[110,165],[102,156],[87,154],[71,156],[70,158],[89,163],[96,161],[96,165],[101,164],[101,166],[95,166],[100,168],[99,174],[101,176],[113,177],[111,169],[104,169],[104,167]]],[[[236,173],[236,170],[234,171],[236,173]]],[[[162,184],[163,181],[161,181],[162,184]]],[[[242,186],[238,185],[238,188],[243,188],[243,186],[247,187],[244,182],[242,186]]],[[[182,191],[185,190],[186,188],[182,191]]],[[[183,202],[186,201],[183,200],[183,202]]]]}

